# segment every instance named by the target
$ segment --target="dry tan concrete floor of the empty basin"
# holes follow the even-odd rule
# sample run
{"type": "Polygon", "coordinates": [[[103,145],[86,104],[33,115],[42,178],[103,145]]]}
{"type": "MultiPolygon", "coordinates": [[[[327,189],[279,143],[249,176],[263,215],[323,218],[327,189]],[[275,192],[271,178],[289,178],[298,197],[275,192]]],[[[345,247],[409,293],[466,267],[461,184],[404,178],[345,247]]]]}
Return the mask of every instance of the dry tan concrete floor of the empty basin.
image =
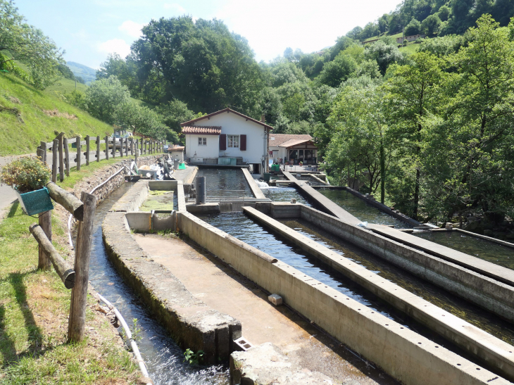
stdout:
{"type": "Polygon", "coordinates": [[[180,279],[193,296],[239,320],[244,338],[253,346],[271,342],[303,370],[325,374],[337,384],[396,384],[384,372],[366,366],[337,346],[289,308],[269,303],[261,289],[210,253],[178,238],[134,234],[134,239],[180,279]]]}

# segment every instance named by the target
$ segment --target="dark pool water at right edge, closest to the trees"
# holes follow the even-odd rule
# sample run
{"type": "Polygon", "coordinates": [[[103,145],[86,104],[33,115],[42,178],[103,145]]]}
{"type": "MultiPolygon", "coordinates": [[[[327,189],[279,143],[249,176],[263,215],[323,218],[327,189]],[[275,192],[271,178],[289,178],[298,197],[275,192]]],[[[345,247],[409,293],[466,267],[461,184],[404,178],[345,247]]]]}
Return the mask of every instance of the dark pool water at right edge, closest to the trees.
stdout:
{"type": "Polygon", "coordinates": [[[458,231],[451,232],[413,232],[427,241],[473,255],[474,257],[514,269],[514,248],[496,244],[487,239],[477,238],[458,231]]]}

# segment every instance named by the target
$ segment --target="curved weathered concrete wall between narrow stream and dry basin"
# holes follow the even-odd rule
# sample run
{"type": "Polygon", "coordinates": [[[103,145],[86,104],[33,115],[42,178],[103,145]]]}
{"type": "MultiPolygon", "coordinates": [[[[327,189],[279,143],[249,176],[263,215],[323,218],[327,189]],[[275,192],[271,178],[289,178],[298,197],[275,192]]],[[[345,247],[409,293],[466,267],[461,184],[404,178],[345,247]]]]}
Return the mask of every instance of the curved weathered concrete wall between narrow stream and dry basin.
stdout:
{"type": "MultiPolygon", "coordinates": [[[[138,182],[139,183],[139,182],[138,182]]],[[[128,232],[125,213],[108,213],[102,223],[106,251],[120,275],[182,348],[204,351],[207,362],[227,360],[241,323],[192,296],[163,265],[154,262],[128,232]]]]}

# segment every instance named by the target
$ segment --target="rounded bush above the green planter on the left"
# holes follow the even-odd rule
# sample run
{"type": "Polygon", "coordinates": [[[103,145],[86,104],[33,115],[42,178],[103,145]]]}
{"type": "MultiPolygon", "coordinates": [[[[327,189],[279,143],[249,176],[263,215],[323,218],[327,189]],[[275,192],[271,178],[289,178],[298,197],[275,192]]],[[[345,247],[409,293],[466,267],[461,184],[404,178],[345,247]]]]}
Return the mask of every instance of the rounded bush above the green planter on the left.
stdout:
{"type": "Polygon", "coordinates": [[[51,171],[39,158],[23,156],[2,168],[0,182],[23,194],[42,189],[50,177],[51,171]]]}

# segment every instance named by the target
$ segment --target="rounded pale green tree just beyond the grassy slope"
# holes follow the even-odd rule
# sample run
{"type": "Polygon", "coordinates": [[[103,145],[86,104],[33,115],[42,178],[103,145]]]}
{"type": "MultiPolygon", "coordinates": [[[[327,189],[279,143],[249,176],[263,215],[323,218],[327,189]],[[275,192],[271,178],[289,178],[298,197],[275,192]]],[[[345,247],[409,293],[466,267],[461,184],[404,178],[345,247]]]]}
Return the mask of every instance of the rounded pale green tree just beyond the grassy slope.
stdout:
{"type": "Polygon", "coordinates": [[[87,111],[92,116],[113,123],[116,108],[129,103],[130,92],[115,76],[110,76],[92,82],[86,90],[86,100],[87,111]]]}

